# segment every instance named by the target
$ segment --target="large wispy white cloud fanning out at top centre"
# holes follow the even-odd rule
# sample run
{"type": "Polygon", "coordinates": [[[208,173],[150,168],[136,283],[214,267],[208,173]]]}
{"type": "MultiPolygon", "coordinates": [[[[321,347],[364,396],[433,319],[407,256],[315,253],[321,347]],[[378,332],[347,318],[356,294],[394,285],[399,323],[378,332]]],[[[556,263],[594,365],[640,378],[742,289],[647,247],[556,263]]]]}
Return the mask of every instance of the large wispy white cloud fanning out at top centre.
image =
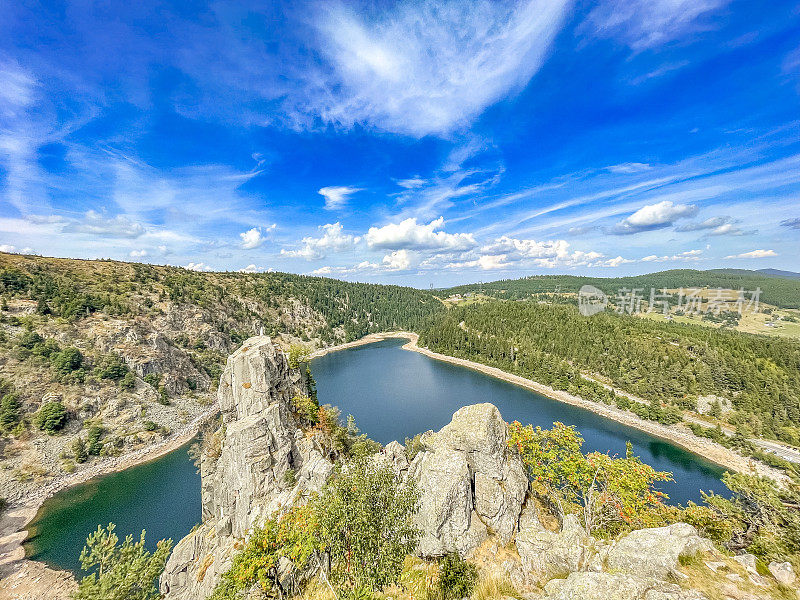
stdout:
{"type": "Polygon", "coordinates": [[[329,3],[317,23],[329,69],[307,74],[296,118],[419,137],[452,131],[528,83],[570,5],[429,0],[370,19],[329,3]]]}

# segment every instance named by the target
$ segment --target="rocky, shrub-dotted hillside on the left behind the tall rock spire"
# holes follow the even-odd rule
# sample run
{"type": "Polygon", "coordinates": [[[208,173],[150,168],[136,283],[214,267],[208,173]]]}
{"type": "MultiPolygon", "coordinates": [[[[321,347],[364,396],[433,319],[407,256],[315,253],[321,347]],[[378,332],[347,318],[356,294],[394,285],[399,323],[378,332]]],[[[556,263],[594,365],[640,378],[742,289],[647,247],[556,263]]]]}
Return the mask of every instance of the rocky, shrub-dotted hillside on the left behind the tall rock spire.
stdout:
{"type": "Polygon", "coordinates": [[[0,254],[0,497],[169,435],[262,328],[319,347],[444,310],[397,286],[0,254]]]}

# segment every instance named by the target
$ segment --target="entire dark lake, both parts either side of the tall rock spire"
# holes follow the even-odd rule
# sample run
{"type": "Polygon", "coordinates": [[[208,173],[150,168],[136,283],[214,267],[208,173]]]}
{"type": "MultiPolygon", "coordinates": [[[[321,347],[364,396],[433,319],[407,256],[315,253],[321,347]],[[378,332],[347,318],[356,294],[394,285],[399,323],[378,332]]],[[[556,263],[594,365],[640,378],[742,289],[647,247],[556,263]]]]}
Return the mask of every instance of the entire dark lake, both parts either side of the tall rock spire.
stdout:
{"type": "MultiPolygon", "coordinates": [[[[719,479],[723,469],[691,452],[500,379],[402,350],[405,342],[385,340],[314,359],[320,402],[352,414],[362,432],[383,444],[440,429],[462,406],[491,402],[506,421],[575,425],[585,451],[624,456],[630,440],[644,462],[674,474],[675,482],[661,488],[671,502],[700,502],[700,490],[726,492],[719,479]]],[[[187,447],[48,499],[32,523],[28,555],[78,574],[86,536],[111,521],[121,538],[146,529],[150,548],[162,538],[180,540],[200,521],[200,476],[187,447]]]]}

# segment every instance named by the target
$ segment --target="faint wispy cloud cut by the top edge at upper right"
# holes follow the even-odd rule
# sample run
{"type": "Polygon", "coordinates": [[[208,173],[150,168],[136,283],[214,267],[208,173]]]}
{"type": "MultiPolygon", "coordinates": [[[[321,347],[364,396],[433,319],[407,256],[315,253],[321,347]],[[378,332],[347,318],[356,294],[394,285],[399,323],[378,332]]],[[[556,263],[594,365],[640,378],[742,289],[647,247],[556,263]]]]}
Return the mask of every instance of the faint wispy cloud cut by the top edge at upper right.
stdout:
{"type": "Polygon", "coordinates": [[[585,29],[620,39],[639,52],[709,30],[704,17],[728,1],[605,0],[589,14],[585,29]]]}

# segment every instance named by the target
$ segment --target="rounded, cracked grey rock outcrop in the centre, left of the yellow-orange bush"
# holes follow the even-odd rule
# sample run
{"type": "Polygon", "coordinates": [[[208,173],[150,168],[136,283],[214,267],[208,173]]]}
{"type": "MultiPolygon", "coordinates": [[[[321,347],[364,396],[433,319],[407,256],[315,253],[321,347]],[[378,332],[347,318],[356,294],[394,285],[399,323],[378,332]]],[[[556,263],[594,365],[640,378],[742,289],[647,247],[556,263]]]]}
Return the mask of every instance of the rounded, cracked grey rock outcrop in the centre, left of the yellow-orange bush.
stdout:
{"type": "Polygon", "coordinates": [[[438,433],[424,437],[426,450],[411,463],[418,482],[421,556],[467,554],[494,532],[513,538],[528,478],[507,445],[508,429],[492,404],[458,410],[438,433]]]}

